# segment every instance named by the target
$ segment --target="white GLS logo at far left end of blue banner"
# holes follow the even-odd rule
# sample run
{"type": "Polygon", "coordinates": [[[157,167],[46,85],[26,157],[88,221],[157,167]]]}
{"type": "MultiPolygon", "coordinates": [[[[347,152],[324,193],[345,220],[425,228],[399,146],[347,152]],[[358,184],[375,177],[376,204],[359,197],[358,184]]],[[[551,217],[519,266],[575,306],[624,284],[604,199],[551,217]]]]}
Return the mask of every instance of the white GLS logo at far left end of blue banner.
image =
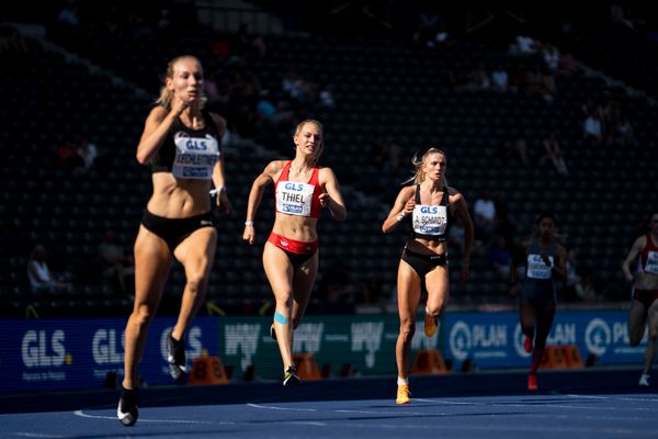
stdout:
{"type": "Polygon", "coordinates": [[[21,344],[21,358],[30,371],[23,372],[23,381],[64,381],[66,372],[59,370],[72,358],[66,352],[66,334],[63,329],[26,330],[21,344]],[[35,371],[37,369],[38,371],[35,371]]]}

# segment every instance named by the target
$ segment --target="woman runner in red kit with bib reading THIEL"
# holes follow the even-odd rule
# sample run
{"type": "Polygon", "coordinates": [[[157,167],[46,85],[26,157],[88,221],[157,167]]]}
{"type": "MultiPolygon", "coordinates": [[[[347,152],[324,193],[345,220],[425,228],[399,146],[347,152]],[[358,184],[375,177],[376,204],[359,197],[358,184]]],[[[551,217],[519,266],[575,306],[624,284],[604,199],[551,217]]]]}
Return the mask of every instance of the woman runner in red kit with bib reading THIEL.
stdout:
{"type": "Polygon", "coordinates": [[[271,161],[253,181],[242,234],[253,245],[256,212],[265,187],[274,183],[276,213],[263,249],[263,268],[276,300],[270,335],[281,351],[284,386],[299,382],[293,362],[293,330],[302,323],[318,271],[320,212],[327,209],[338,221],[348,215],[333,171],[317,165],[324,148],[322,124],[300,122],[293,140],[295,158],[271,161]]]}

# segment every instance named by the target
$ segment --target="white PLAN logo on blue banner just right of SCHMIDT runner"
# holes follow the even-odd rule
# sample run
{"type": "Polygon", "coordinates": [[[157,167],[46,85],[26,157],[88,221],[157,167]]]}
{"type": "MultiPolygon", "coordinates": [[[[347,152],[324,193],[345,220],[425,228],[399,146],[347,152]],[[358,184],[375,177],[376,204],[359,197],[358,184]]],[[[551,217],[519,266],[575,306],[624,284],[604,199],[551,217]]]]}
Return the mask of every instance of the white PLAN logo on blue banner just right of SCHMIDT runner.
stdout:
{"type": "Polygon", "coordinates": [[[470,358],[507,358],[507,325],[474,324],[457,320],[450,331],[450,349],[461,361],[470,358]]]}

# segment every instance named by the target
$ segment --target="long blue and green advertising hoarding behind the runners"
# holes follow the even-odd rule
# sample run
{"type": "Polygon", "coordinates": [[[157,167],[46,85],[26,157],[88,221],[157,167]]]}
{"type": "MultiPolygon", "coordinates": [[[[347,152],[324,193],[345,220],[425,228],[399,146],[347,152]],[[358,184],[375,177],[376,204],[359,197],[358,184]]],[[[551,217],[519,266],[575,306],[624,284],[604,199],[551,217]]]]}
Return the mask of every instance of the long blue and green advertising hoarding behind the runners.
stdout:
{"type": "MultiPolygon", "coordinates": [[[[526,368],[530,354],[517,313],[446,313],[439,334],[426,337],[419,316],[412,356],[439,349],[458,369],[472,360],[478,369],[526,368]]],[[[261,379],[282,373],[271,317],[197,317],[185,337],[189,365],[203,354],[218,356],[240,379],[250,365],[261,379]]],[[[8,319],[0,322],[0,389],[2,392],[102,389],[106,376],[123,376],[125,318],[8,319]]],[[[166,341],[173,318],[158,317],[139,368],[149,385],[171,384],[166,341]]],[[[295,330],[294,350],[310,352],[320,368],[336,373],[350,363],[362,375],[395,374],[396,315],[308,316],[295,330]]],[[[548,345],[576,345],[583,359],[597,364],[639,364],[646,346],[632,347],[627,313],[559,312],[548,345]]]]}

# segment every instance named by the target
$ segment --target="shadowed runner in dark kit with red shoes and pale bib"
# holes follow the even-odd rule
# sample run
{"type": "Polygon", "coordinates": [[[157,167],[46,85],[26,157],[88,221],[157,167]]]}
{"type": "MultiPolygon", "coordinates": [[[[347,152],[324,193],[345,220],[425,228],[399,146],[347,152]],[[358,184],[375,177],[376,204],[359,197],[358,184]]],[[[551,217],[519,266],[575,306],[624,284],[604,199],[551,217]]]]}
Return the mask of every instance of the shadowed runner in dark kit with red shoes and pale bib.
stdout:
{"type": "Polygon", "coordinates": [[[527,390],[537,390],[536,373],[553,326],[557,301],[556,281],[567,279],[567,250],[556,240],[557,222],[552,213],[535,221],[533,236],[521,244],[518,258],[510,267],[510,296],[519,296],[523,349],[532,352],[527,390]],[[520,288],[518,267],[525,263],[525,279],[520,288]]]}

